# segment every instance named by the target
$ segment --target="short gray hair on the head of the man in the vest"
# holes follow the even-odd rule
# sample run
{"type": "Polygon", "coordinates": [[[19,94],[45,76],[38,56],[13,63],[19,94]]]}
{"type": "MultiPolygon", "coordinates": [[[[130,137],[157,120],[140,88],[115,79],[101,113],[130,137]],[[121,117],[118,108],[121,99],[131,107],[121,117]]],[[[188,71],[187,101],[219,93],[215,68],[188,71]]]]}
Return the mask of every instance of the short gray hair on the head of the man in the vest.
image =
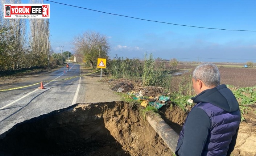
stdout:
{"type": "Polygon", "coordinates": [[[216,87],[220,84],[219,69],[212,63],[201,64],[195,68],[193,72],[193,79],[200,79],[207,87],[216,87]]]}

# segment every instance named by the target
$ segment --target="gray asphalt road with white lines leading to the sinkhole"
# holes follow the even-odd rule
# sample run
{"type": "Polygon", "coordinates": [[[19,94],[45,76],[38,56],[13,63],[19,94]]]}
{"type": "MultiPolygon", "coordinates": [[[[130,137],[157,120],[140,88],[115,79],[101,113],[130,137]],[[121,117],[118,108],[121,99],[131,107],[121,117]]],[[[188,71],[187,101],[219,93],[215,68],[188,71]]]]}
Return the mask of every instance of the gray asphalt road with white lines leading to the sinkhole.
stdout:
{"type": "Polygon", "coordinates": [[[41,85],[37,84],[0,92],[0,135],[17,123],[83,101],[84,78],[75,77],[80,75],[80,65],[71,63],[70,67],[71,69],[66,73],[64,73],[66,67],[63,67],[54,72],[34,75],[28,80],[13,83],[11,86],[1,86],[0,90],[7,87],[32,85],[42,81],[45,89],[38,89],[41,85]]]}

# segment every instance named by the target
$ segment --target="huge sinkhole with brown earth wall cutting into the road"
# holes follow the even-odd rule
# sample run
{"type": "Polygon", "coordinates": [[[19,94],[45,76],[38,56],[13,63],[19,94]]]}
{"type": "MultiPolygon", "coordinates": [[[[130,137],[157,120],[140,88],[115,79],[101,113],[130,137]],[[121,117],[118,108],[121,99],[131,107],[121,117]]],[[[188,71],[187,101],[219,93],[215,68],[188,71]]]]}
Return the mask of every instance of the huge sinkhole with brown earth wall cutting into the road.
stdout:
{"type": "Polygon", "coordinates": [[[72,105],[18,123],[0,135],[1,156],[171,154],[138,108],[123,101],[72,105]]]}

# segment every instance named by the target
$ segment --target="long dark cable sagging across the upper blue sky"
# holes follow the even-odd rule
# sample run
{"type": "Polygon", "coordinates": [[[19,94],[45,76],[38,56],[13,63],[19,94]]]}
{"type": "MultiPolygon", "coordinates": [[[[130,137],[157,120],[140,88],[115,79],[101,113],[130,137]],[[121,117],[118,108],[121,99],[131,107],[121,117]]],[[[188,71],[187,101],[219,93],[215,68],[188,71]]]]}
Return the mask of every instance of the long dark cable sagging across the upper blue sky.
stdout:
{"type": "MultiPolygon", "coordinates": [[[[50,1],[50,0],[46,0],[46,1],[50,1]]],[[[101,13],[106,13],[106,14],[112,14],[112,15],[116,15],[116,16],[134,18],[134,19],[137,19],[137,20],[150,21],[150,22],[158,22],[158,23],[172,24],[172,25],[178,25],[178,26],[189,26],[189,27],[202,28],[202,29],[216,29],[216,30],[228,30],[228,31],[253,31],[253,32],[256,32],[256,30],[235,30],[235,29],[207,28],[207,27],[201,27],[201,26],[191,26],[191,25],[182,25],[182,24],[174,24],[174,23],[161,22],[161,21],[146,20],[146,19],[143,19],[143,18],[137,18],[137,17],[131,17],[131,16],[120,15],[120,14],[108,13],[108,12],[103,12],[103,11],[98,11],[98,10],[93,10],[93,9],[78,7],[78,6],[75,6],[75,5],[59,3],[59,2],[55,2],[55,1],[50,1],[50,2],[57,3],[57,4],[62,4],[62,5],[67,5],[67,6],[71,6],[71,7],[76,7],[76,8],[87,9],[87,10],[96,11],[96,12],[101,12],[101,13]]]]}

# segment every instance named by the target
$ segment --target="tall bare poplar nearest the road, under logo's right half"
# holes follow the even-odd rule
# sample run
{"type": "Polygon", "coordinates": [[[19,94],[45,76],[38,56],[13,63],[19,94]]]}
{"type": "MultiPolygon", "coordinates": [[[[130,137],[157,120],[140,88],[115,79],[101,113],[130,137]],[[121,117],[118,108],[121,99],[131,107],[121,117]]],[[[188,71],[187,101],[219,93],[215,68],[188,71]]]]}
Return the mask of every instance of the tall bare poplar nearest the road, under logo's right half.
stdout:
{"type": "MultiPolygon", "coordinates": [[[[43,3],[43,0],[30,0],[30,3],[43,3]]],[[[33,60],[37,66],[47,64],[48,49],[47,35],[49,35],[49,19],[30,19],[30,47],[33,60]]],[[[49,40],[48,40],[49,41],[49,40]]],[[[49,49],[50,49],[50,42],[49,49]]]]}

